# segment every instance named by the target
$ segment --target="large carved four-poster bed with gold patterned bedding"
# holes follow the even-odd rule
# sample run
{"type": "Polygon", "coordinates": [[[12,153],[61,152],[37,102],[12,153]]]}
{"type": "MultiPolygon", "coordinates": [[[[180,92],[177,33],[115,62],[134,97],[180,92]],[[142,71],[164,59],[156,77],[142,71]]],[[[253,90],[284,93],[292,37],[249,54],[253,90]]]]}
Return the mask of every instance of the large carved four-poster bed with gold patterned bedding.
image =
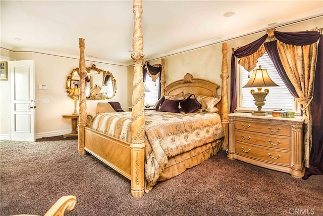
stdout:
{"type": "MultiPolygon", "coordinates": [[[[80,116],[78,148],[80,154],[94,155],[131,180],[131,193],[142,197],[158,181],[181,174],[219,150],[228,148],[227,44],[223,44],[222,94],[220,85],[186,74],[183,79],[165,87],[165,61],[161,61],[161,95],[165,96],[159,111],[144,110],[142,63],[144,60],[141,30],[142,3],[133,3],[134,80],[131,112],[100,113],[87,125],[85,98],[84,39],[80,38],[80,116]],[[179,112],[178,105],[189,107],[196,102],[201,109],[179,112]],[[187,100],[184,100],[188,98],[187,100]],[[207,100],[206,100],[207,99],[207,100]],[[221,99],[221,101],[220,101],[221,99]],[[205,109],[205,100],[213,106],[205,109]],[[203,104],[204,103],[204,104],[203,104]],[[166,107],[166,108],[165,108],[166,107]],[[177,108],[175,108],[177,109],[177,108]],[[204,110],[202,112],[202,109],[204,110]],[[163,111],[161,111],[163,110],[163,111]]],[[[161,101],[161,100],[160,100],[161,101]]],[[[206,103],[207,104],[207,103],[206,103]]],[[[194,104],[196,105],[196,104],[194,104]]],[[[157,109],[159,105],[157,106],[157,109]]]]}

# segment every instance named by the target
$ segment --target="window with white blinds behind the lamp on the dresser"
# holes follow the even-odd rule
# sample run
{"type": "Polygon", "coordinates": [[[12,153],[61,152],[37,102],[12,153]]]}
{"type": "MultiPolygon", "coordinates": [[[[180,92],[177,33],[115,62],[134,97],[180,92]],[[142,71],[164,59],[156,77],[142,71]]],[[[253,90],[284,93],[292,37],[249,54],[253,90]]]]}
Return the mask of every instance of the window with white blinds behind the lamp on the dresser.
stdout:
{"type": "MultiPolygon", "coordinates": [[[[269,93],[265,98],[265,105],[262,106],[262,110],[264,111],[273,111],[276,109],[283,109],[286,111],[296,112],[296,103],[294,97],[290,94],[283,80],[279,76],[274,63],[270,59],[267,53],[261,56],[258,59],[258,63],[255,69],[257,69],[261,65],[262,69],[267,69],[268,75],[271,79],[279,85],[279,87],[263,87],[264,89],[268,89],[269,93]]],[[[250,93],[250,90],[258,91],[257,88],[242,88],[247,81],[249,80],[248,74],[252,74],[252,71],[248,73],[241,65],[240,66],[240,109],[243,110],[256,110],[257,107],[254,105],[254,98],[250,93]]]]}

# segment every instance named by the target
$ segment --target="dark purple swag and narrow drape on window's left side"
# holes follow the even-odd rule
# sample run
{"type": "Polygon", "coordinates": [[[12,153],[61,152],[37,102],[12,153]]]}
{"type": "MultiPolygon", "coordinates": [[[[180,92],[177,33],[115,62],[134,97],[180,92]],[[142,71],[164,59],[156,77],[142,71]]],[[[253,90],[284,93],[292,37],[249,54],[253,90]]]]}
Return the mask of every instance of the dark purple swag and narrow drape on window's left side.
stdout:
{"type": "Polygon", "coordinates": [[[249,56],[253,53],[255,53],[257,50],[259,50],[260,46],[263,44],[263,42],[266,40],[268,37],[268,34],[263,35],[259,39],[251,42],[248,45],[245,45],[236,51],[232,53],[231,56],[231,76],[230,76],[230,98],[231,98],[231,103],[230,103],[230,113],[233,113],[235,109],[237,109],[237,84],[236,84],[236,60],[235,56],[237,58],[242,58],[245,56],[249,56]]]}

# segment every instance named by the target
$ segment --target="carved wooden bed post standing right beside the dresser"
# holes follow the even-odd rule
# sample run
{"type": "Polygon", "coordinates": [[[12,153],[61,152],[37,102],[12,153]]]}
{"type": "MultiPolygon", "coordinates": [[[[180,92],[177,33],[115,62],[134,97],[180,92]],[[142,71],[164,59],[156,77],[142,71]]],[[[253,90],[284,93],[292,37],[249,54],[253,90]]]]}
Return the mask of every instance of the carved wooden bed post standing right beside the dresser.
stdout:
{"type": "Polygon", "coordinates": [[[221,119],[222,119],[222,128],[225,134],[225,140],[222,145],[222,150],[228,149],[228,62],[227,62],[227,53],[228,53],[228,43],[224,42],[222,44],[222,89],[221,89],[221,119]]]}

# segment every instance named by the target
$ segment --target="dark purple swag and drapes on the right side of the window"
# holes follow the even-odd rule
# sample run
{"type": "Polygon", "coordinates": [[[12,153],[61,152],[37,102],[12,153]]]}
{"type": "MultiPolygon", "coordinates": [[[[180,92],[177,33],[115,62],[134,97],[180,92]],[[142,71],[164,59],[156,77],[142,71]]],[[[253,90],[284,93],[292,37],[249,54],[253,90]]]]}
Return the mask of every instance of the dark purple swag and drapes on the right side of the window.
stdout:
{"type": "MultiPolygon", "coordinates": [[[[285,44],[304,46],[318,42],[317,60],[315,67],[314,92],[312,101],[312,147],[310,152],[310,167],[305,167],[305,175],[303,179],[308,179],[311,175],[323,175],[323,94],[321,93],[320,83],[323,83],[323,36],[317,31],[301,31],[301,32],[278,32],[275,36],[285,44]]],[[[279,58],[277,41],[266,42],[264,47],[273,61],[279,75],[283,79],[291,94],[295,97],[295,89],[290,88],[286,72],[279,58]]],[[[296,94],[297,95],[297,94],[296,94]]]]}

